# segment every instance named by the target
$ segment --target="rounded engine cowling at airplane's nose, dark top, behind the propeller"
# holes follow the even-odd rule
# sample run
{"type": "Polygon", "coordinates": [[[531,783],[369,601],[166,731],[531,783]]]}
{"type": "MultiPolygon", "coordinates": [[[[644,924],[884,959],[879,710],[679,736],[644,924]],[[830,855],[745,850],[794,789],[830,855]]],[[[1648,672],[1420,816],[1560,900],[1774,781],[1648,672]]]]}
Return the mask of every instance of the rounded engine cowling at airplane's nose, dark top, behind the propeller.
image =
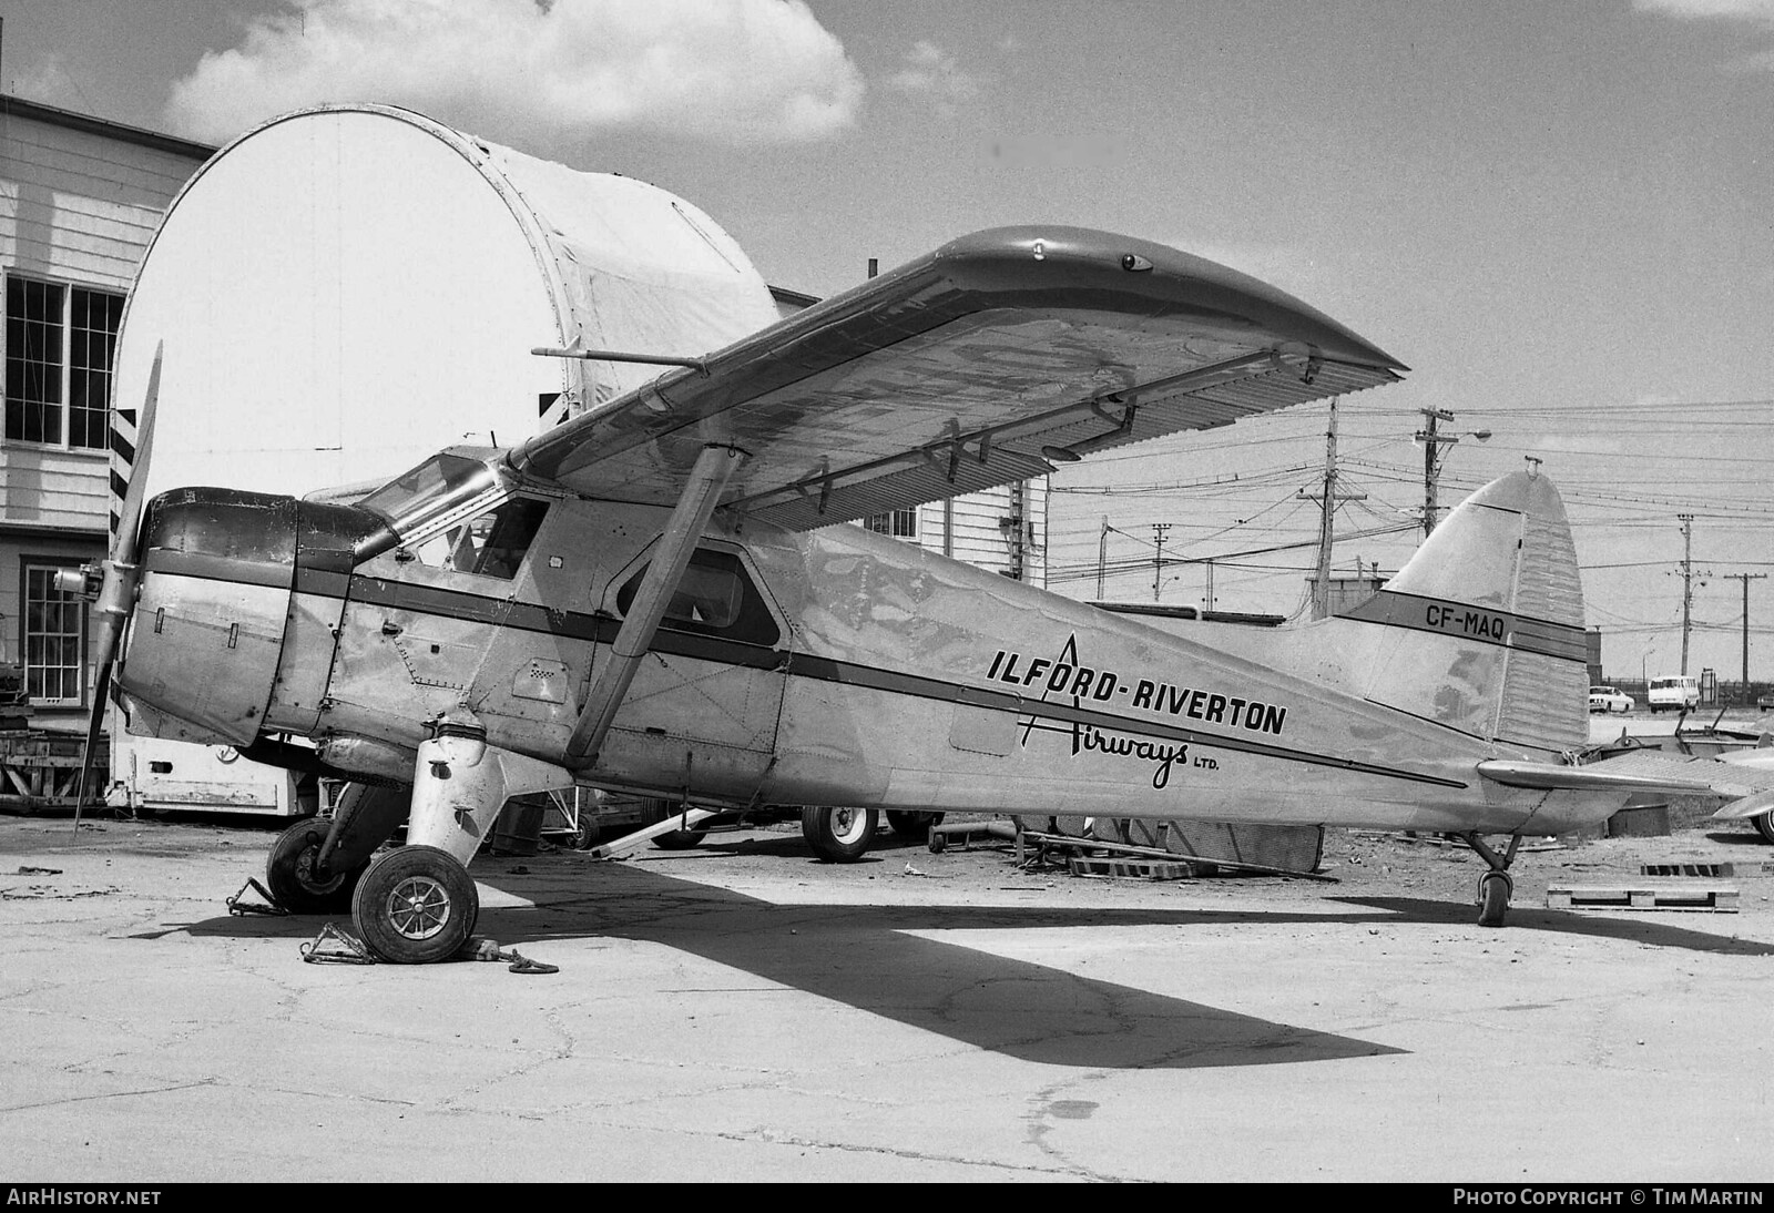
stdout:
{"type": "Polygon", "coordinates": [[[131,731],[204,745],[259,734],[296,567],[296,500],[174,489],[147,507],[117,688],[131,731]]]}

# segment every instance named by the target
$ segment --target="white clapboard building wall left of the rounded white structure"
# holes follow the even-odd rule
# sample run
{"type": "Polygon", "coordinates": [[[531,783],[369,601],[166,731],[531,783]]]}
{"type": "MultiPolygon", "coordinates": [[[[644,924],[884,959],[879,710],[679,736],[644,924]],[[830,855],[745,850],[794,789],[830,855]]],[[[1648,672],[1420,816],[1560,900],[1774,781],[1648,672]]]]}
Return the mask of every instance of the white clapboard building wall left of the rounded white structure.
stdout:
{"type": "MultiPolygon", "coordinates": [[[[64,296],[75,287],[128,294],[160,216],[208,154],[197,144],[0,98],[0,271],[55,284],[64,296]]],[[[5,309],[0,293],[0,316],[5,309]]],[[[69,337],[64,330],[62,360],[69,337]]],[[[108,516],[103,447],[71,445],[66,424],[57,442],[0,438],[0,660],[25,656],[25,566],[103,555],[108,516]]],[[[89,660],[82,702],[39,706],[35,724],[80,727],[92,677],[89,660]]]]}

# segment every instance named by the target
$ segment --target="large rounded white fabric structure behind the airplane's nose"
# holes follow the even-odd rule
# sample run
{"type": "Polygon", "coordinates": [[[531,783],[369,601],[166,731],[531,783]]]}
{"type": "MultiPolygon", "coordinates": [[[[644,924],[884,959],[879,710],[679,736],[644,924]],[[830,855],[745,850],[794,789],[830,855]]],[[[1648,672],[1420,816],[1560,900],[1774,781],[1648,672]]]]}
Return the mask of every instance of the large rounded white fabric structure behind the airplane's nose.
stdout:
{"type": "MultiPolygon", "coordinates": [[[[509,445],[777,319],[701,209],[381,105],[273,119],[184,186],[122,321],[115,403],[165,346],[151,491],[273,493],[509,445]]],[[[128,475],[128,468],[117,468],[128,475]]]]}

